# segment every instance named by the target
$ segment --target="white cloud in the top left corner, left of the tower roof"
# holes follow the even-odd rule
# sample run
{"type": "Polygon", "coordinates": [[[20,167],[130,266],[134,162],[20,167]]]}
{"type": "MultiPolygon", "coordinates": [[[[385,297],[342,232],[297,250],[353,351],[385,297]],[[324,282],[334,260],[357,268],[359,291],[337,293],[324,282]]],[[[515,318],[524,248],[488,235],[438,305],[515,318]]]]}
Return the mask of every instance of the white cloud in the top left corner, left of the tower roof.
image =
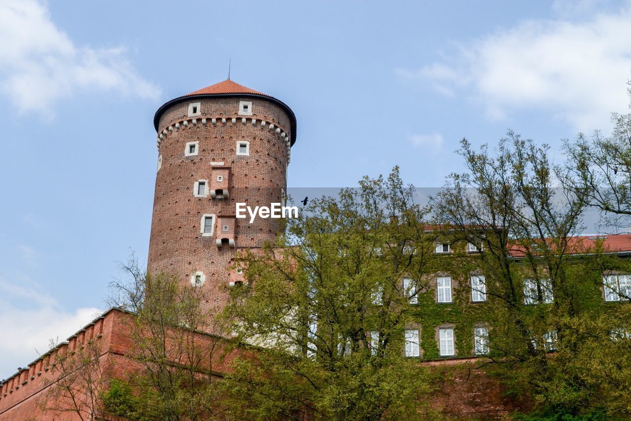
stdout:
{"type": "Polygon", "coordinates": [[[0,0],[0,21],[0,91],[21,113],[50,116],[54,102],[80,91],[160,94],[134,70],[124,47],[75,46],[37,0],[0,0]]]}

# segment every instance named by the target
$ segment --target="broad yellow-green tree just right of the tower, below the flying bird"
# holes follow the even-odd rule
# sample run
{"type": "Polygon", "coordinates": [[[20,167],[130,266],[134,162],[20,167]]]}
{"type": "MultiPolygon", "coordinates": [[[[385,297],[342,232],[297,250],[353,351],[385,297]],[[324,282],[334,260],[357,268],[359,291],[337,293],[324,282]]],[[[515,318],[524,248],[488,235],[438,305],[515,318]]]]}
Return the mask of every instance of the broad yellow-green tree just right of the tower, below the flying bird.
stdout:
{"type": "Polygon", "coordinates": [[[224,316],[257,352],[223,384],[233,417],[398,419],[427,409],[430,377],[405,356],[404,330],[436,269],[428,212],[395,168],[312,200],[280,247],[237,262],[250,282],[233,289],[224,316]]]}

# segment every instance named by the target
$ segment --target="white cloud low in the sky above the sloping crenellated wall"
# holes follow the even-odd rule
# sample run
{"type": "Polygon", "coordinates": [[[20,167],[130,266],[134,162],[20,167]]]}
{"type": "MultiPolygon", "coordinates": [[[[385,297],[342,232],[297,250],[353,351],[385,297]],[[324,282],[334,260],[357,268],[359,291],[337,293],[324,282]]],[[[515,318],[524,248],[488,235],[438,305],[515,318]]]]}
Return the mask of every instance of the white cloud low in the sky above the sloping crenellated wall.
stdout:
{"type": "Polygon", "coordinates": [[[0,278],[0,379],[38,358],[38,352],[47,351],[50,339],[64,341],[100,314],[93,307],[68,312],[40,291],[28,279],[0,278]]]}

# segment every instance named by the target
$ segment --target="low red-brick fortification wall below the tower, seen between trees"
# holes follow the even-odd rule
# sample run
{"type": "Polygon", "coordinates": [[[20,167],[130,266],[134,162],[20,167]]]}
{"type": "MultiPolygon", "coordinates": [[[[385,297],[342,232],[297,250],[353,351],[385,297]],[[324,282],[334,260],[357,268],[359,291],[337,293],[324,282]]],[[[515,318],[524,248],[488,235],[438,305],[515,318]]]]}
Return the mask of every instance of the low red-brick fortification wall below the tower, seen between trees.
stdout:
{"type": "MultiPolygon", "coordinates": [[[[64,353],[71,346],[81,346],[83,341],[94,338],[102,344],[100,364],[103,376],[127,379],[141,369],[138,363],[129,357],[133,349],[129,335],[130,314],[111,309],[69,338],[59,348],[38,358],[19,374],[16,373],[5,381],[0,394],[0,421],[24,420],[78,420],[73,412],[56,412],[42,409],[69,408],[71,403],[53,393],[50,381],[59,376],[59,371],[52,368],[58,353],[64,353]],[[98,338],[97,338],[98,336],[98,338]],[[74,345],[73,345],[74,338],[74,345]]],[[[246,350],[235,350],[227,355],[223,353],[225,339],[211,334],[198,333],[195,338],[200,347],[210,348],[215,344],[211,359],[212,371],[217,374],[230,370],[230,363],[237,355],[246,355],[246,350]]],[[[455,418],[505,418],[516,410],[528,410],[531,403],[527,398],[512,401],[504,398],[499,382],[478,369],[480,360],[476,358],[452,358],[450,360],[423,362],[440,374],[438,391],[430,399],[430,406],[449,417],[455,418]]]]}

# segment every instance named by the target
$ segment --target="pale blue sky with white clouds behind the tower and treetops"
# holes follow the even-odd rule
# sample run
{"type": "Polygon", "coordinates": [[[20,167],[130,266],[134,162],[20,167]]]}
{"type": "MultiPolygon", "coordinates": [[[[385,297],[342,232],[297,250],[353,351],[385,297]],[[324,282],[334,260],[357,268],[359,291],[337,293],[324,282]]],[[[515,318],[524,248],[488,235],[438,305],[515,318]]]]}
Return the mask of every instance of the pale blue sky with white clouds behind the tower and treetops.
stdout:
{"type": "Polygon", "coordinates": [[[0,0],[0,379],[146,261],[153,113],[232,79],[297,115],[290,187],[459,171],[457,142],[551,145],[626,112],[627,1],[0,0]]]}

